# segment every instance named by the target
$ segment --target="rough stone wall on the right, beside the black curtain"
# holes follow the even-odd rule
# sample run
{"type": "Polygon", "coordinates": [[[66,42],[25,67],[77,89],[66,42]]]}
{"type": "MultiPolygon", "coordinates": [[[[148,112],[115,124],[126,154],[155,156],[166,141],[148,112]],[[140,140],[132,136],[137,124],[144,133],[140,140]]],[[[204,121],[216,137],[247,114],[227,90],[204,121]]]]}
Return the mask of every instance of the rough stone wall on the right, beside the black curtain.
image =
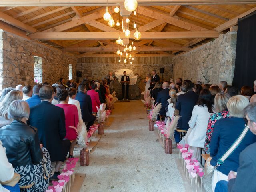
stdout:
{"type": "Polygon", "coordinates": [[[225,80],[232,84],[236,58],[236,34],[222,34],[190,52],[172,58],[174,78],[201,80],[218,84],[225,80]]]}

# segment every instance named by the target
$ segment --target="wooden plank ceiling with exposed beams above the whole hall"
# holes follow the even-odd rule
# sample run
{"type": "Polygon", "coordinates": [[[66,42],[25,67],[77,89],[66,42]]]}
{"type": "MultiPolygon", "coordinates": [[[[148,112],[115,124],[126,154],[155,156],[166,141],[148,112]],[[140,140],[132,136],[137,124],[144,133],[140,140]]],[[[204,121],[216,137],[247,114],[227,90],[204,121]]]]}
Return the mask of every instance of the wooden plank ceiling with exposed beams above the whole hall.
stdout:
{"type": "MultiPolygon", "coordinates": [[[[108,0],[114,7],[124,2],[108,0]]],[[[117,57],[124,34],[104,21],[106,2],[98,0],[1,0],[0,28],[77,57],[117,57]]],[[[130,43],[136,57],[170,56],[187,52],[229,31],[237,20],[256,11],[256,0],[138,0],[130,15],[130,43]],[[140,40],[134,40],[136,22],[140,40]]]]}

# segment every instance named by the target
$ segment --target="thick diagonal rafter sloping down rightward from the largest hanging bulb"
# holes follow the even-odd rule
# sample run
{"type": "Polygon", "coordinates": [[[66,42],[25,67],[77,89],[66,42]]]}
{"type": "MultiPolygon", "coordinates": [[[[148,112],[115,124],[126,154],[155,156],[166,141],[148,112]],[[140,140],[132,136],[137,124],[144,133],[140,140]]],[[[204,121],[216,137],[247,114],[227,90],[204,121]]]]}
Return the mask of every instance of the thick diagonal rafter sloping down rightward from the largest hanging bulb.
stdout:
{"type": "Polygon", "coordinates": [[[203,27],[200,27],[200,26],[197,26],[197,25],[194,25],[194,24],[190,24],[188,22],[179,20],[177,18],[170,17],[166,14],[155,12],[153,10],[150,10],[149,8],[146,8],[146,7],[138,7],[138,13],[142,14],[142,15],[145,15],[145,16],[148,16],[148,17],[151,17],[151,18],[154,18],[154,19],[158,19],[158,18],[166,19],[166,21],[168,23],[170,23],[172,25],[175,25],[175,26],[178,26],[180,28],[190,30],[190,31],[209,31],[206,28],[203,28],[203,27]]]}

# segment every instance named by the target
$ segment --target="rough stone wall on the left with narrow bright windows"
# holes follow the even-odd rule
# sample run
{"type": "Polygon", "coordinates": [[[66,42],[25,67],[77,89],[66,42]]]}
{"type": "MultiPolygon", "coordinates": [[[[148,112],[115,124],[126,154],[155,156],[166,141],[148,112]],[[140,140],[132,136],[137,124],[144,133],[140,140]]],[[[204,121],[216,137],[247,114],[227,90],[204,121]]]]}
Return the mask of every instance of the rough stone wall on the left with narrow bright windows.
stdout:
{"type": "Polygon", "coordinates": [[[0,30],[0,91],[17,84],[34,83],[34,56],[42,58],[42,82],[52,84],[59,78],[68,80],[68,64],[72,64],[75,77],[75,57],[0,30]]]}

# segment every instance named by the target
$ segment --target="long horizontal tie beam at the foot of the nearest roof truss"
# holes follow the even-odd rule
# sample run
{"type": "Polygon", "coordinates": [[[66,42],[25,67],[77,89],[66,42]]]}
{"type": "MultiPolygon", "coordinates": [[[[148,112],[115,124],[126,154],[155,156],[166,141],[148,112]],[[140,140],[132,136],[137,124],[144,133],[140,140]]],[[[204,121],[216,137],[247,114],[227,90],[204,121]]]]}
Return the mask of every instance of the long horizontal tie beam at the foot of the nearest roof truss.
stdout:
{"type": "MultiPolygon", "coordinates": [[[[172,39],[172,38],[218,38],[216,31],[180,31],[180,32],[141,32],[142,39],[172,39]]],[[[119,32],[38,32],[29,35],[31,39],[113,39],[119,32]]],[[[125,38],[124,34],[120,34],[125,38]]],[[[131,33],[131,37],[133,32],[131,33]]]]}

